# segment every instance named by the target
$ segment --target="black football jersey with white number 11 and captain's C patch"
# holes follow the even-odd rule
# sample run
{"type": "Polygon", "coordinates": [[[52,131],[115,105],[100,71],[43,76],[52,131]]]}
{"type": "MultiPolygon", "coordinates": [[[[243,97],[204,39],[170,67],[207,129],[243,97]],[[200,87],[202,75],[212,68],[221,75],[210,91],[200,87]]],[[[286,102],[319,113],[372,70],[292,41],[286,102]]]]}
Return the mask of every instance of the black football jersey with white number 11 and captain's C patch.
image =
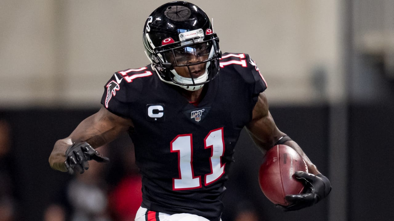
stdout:
{"type": "Polygon", "coordinates": [[[267,85],[249,55],[224,53],[204,87],[192,105],[151,65],[116,72],[105,86],[101,103],[134,123],[129,133],[148,210],[220,219],[234,146],[267,85]]]}

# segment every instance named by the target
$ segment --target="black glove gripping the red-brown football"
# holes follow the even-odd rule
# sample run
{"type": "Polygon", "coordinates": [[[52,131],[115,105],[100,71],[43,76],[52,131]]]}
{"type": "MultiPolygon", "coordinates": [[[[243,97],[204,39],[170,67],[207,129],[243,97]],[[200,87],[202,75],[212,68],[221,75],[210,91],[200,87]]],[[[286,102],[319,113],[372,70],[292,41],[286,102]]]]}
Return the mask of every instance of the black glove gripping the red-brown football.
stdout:
{"type": "Polygon", "coordinates": [[[290,206],[276,205],[285,212],[312,206],[326,197],[331,191],[330,180],[322,174],[313,175],[312,173],[296,171],[294,175],[297,179],[305,180],[305,191],[301,194],[286,195],[286,201],[290,203],[290,206]]]}

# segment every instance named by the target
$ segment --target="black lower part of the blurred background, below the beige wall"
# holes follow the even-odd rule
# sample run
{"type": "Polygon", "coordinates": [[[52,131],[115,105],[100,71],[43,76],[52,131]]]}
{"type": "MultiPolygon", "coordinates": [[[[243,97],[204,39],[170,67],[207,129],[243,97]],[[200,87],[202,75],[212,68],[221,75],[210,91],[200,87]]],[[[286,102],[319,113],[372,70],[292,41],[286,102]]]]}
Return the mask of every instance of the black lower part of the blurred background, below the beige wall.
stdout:
{"type": "MultiPolygon", "coordinates": [[[[393,220],[392,187],[394,105],[350,104],[348,110],[348,220],[393,220]]],[[[41,220],[48,204],[56,200],[71,176],[54,171],[48,157],[56,140],[64,138],[92,110],[26,109],[4,110],[12,128],[12,151],[16,166],[19,220],[41,220]]],[[[320,171],[329,174],[329,106],[270,107],[279,129],[303,148],[320,171]]],[[[262,154],[243,131],[232,164],[224,221],[247,207],[258,211],[261,220],[328,220],[328,200],[298,212],[283,213],[260,191],[257,181],[262,154]]],[[[335,180],[332,180],[335,181],[335,180]]],[[[338,180],[336,180],[338,181],[338,180]]],[[[338,183],[338,182],[336,182],[338,183]]],[[[333,192],[336,186],[333,186],[333,192]]],[[[332,194],[331,194],[332,195],[332,194]]],[[[330,196],[331,196],[330,195],[330,196]]],[[[335,205],[333,205],[335,207],[335,205]]],[[[335,210],[335,208],[331,208],[335,210]]]]}

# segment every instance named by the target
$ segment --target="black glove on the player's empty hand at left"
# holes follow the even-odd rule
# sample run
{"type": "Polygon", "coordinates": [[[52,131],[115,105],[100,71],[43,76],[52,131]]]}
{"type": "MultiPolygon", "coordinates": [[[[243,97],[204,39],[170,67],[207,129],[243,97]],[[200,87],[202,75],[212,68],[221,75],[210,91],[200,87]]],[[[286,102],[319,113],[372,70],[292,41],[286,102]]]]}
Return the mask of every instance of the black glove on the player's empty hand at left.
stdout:
{"type": "Polygon", "coordinates": [[[109,162],[108,157],[104,157],[99,151],[93,149],[87,142],[72,144],[66,151],[66,165],[67,172],[74,173],[74,170],[79,173],[84,173],[85,169],[89,169],[88,160],[96,160],[97,162],[109,162]]]}

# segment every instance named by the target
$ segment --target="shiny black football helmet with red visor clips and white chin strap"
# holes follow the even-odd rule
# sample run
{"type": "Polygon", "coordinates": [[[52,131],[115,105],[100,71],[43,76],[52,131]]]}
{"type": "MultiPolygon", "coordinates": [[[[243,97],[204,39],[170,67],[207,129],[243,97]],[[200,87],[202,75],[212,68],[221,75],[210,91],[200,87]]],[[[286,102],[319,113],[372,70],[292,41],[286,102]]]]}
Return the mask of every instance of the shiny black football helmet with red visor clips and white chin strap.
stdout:
{"type": "Polygon", "coordinates": [[[219,38],[206,13],[189,2],[169,2],[154,10],[145,22],[143,42],[152,67],[166,83],[198,90],[219,72],[219,38]],[[205,72],[193,77],[193,65],[201,64],[205,72]],[[175,67],[186,67],[190,76],[180,76],[175,67]]]}

